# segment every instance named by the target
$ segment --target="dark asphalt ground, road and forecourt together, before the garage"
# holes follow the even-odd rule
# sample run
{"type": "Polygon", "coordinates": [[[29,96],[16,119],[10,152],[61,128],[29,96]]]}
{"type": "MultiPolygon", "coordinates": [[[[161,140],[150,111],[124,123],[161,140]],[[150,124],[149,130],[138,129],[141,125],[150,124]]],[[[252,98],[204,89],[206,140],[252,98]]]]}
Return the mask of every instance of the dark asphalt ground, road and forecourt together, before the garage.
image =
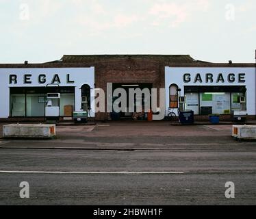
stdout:
{"type": "Polygon", "coordinates": [[[231,125],[111,123],[57,135],[0,140],[0,205],[256,204],[256,144],[233,140],[231,125]]]}

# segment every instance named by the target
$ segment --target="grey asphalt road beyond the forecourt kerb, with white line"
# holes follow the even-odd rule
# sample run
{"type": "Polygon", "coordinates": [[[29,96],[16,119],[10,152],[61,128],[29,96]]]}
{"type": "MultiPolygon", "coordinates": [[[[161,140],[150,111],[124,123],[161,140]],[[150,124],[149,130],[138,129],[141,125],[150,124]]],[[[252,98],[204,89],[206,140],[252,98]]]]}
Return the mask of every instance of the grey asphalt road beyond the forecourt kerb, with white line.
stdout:
{"type": "Polygon", "coordinates": [[[154,150],[7,148],[18,142],[0,145],[6,146],[0,149],[0,205],[256,203],[253,142],[225,150],[203,143],[161,149],[159,142],[154,150]],[[29,198],[19,196],[21,181],[29,183],[29,198]],[[225,198],[227,181],[235,183],[235,198],[225,198]]]}

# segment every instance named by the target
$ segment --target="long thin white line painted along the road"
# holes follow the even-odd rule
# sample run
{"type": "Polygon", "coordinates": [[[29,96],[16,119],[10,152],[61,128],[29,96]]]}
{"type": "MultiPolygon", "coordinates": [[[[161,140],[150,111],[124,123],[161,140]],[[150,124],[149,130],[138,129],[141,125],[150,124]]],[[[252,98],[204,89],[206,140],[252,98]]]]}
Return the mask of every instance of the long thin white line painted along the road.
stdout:
{"type": "Polygon", "coordinates": [[[40,173],[40,174],[84,174],[84,175],[171,175],[183,174],[184,172],[68,172],[68,171],[12,171],[0,170],[0,173],[40,173]]]}

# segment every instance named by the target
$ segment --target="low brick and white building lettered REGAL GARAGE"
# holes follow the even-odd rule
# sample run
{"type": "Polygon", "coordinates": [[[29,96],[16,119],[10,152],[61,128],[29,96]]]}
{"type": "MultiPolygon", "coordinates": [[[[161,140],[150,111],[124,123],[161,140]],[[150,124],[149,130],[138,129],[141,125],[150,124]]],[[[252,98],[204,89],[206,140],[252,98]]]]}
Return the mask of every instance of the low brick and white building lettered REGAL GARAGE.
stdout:
{"type": "MultiPolygon", "coordinates": [[[[107,120],[109,112],[94,114],[91,92],[101,88],[107,99],[107,83],[112,83],[113,90],[166,88],[166,112],[168,108],[177,111],[180,94],[185,96],[185,109],[193,110],[198,119],[209,113],[228,119],[240,107],[242,96],[248,117],[255,118],[255,74],[254,63],[210,63],[190,55],[64,55],[42,64],[0,64],[0,118],[43,120],[46,95],[60,93],[60,99],[53,100],[60,101],[60,119],[82,110],[81,97],[86,96],[90,117],[107,120]]],[[[134,112],[120,112],[121,118],[133,116],[134,112]]]]}

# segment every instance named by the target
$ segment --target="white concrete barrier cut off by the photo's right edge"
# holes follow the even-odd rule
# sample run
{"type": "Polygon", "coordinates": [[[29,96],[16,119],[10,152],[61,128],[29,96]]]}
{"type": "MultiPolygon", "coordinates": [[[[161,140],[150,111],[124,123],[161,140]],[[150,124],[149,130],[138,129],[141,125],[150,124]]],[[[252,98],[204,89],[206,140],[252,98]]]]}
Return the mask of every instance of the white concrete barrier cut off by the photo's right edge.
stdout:
{"type": "Polygon", "coordinates": [[[256,125],[233,125],[232,136],[238,139],[256,140],[256,125]]]}

